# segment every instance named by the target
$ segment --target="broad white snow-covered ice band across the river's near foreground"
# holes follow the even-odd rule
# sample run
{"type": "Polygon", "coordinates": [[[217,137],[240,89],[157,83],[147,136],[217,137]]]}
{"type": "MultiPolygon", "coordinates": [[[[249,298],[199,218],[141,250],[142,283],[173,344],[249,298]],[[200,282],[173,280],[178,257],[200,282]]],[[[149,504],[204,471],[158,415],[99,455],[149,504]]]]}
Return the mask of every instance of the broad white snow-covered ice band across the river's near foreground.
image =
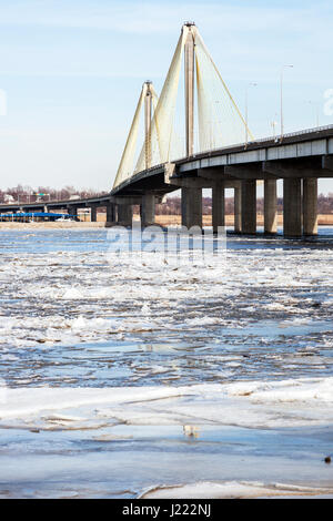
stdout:
{"type": "MultiPolygon", "coordinates": [[[[155,372],[162,371],[160,367],[155,372]]],[[[333,421],[333,378],[122,388],[7,389],[0,423],[50,427],[46,418],[80,409],[127,425],[300,427],[333,421]]]]}

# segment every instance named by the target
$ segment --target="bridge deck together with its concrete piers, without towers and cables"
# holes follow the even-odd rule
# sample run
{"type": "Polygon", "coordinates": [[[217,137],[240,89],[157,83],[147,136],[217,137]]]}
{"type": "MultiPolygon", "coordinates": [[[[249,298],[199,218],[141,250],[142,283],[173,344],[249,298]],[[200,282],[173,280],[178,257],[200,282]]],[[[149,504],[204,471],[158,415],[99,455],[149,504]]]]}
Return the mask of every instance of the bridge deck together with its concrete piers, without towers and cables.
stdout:
{"type": "Polygon", "coordinates": [[[143,225],[154,223],[154,207],[181,188],[182,224],[202,225],[202,190],[212,188],[212,223],[224,225],[224,191],[234,191],[234,229],[256,232],[256,182],[264,184],[264,232],[276,233],[276,182],[283,180],[284,235],[300,237],[317,233],[317,180],[333,177],[333,126],[281,140],[251,142],[192,155],[139,172],[111,193],[93,198],[50,203],[1,205],[0,213],[60,211],[75,215],[78,208],[107,208],[109,225],[130,225],[132,207],[140,205],[143,225]]]}

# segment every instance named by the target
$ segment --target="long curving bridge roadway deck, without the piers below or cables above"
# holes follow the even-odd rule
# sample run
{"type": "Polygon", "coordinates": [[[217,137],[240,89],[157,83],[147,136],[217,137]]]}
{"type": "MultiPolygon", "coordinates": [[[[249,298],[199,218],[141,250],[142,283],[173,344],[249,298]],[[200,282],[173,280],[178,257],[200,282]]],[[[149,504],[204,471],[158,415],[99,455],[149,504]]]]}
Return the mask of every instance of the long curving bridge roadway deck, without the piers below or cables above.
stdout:
{"type": "MultiPolygon", "coordinates": [[[[276,136],[256,140],[179,159],[174,161],[175,177],[198,176],[200,171],[214,168],[219,171],[221,180],[283,178],[281,164],[280,170],[270,172],[269,164],[274,166],[278,162],[283,162],[283,167],[292,168],[292,175],[285,174],[286,177],[333,177],[333,166],[327,168],[322,164],[322,159],[332,154],[333,125],[329,125],[285,134],[283,139],[276,136]],[[262,164],[265,164],[266,171],[262,168],[262,164]]],[[[162,197],[178,188],[174,184],[165,183],[164,165],[160,164],[135,173],[109,194],[82,200],[3,204],[0,205],[0,213],[17,212],[21,208],[41,211],[46,206],[49,210],[105,206],[119,203],[121,197],[132,197],[134,203],[139,203],[145,193],[162,197]]]]}

